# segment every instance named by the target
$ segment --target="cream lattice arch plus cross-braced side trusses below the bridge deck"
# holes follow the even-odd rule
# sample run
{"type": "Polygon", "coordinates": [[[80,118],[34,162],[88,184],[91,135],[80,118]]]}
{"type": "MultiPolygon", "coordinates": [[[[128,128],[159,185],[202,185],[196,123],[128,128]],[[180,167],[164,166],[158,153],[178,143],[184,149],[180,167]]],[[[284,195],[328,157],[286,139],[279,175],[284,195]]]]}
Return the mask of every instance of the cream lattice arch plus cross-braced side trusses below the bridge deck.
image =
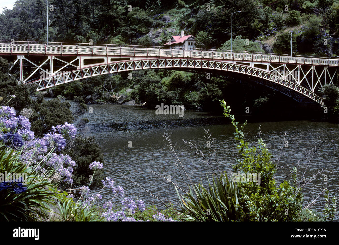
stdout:
{"type": "Polygon", "coordinates": [[[24,83],[37,83],[37,91],[57,86],[59,84],[80,80],[86,77],[92,77],[108,73],[123,71],[132,71],[140,69],[214,69],[219,71],[235,72],[246,74],[259,78],[259,83],[265,84],[275,90],[294,97],[298,101],[302,98],[309,98],[312,101],[323,105],[322,97],[319,96],[318,90],[325,84],[336,83],[336,68],[322,67],[316,65],[299,65],[299,64],[272,64],[263,63],[266,69],[254,68],[253,65],[237,64],[230,61],[214,61],[203,59],[184,59],[184,58],[155,58],[142,60],[115,61],[106,64],[93,65],[80,68],[80,57],[70,57],[65,60],[63,57],[48,56],[46,59],[34,63],[32,60],[18,56],[15,63],[19,62],[20,79],[24,83]],[[61,59],[62,58],[62,59],[61,59]],[[58,65],[56,65],[58,62],[58,65]],[[32,69],[31,73],[23,72],[23,64],[29,63],[32,69]],[[34,74],[46,71],[46,77],[36,77],[34,74]],[[67,70],[68,69],[68,70],[67,70]],[[31,80],[29,80],[31,79],[31,80]],[[262,80],[270,82],[262,82],[262,80]],[[261,81],[261,82],[260,82],[261,81]],[[299,94],[292,96],[291,93],[299,94]]]}

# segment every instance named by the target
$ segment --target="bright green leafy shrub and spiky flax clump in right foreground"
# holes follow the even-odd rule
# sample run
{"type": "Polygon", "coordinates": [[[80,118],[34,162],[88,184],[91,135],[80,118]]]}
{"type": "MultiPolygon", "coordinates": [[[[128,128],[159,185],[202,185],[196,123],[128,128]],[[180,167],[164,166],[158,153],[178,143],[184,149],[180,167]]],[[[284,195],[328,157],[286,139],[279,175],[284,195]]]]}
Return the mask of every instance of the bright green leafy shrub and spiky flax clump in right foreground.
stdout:
{"type": "MultiPolygon", "coordinates": [[[[323,214],[309,210],[307,207],[303,208],[302,190],[305,185],[304,182],[296,180],[297,168],[294,167],[291,170],[290,180],[285,179],[278,185],[274,177],[277,164],[273,163],[272,155],[263,139],[260,138],[261,135],[259,135],[257,143],[250,147],[250,143],[244,140],[246,122],[238,127],[234,115],[230,114],[230,106],[226,106],[224,100],[221,101],[221,105],[225,117],[230,118],[235,127],[234,135],[241,157],[237,159],[234,172],[241,172],[242,177],[232,178],[232,181],[229,180],[226,173],[220,174],[219,177],[213,167],[216,166],[220,173],[221,166],[219,164],[218,167],[218,161],[206,159],[206,154],[203,154],[202,150],[187,142],[190,147],[197,149],[197,152],[217,176],[213,177],[213,181],[207,178],[207,188],[204,188],[202,183],[199,185],[192,183],[188,178],[191,185],[188,185],[188,190],[184,191],[184,195],[180,195],[178,192],[180,187],[175,186],[181,209],[199,221],[332,221],[336,213],[336,197],[332,197],[331,205],[327,187],[324,189],[326,204],[323,214]],[[253,173],[258,176],[255,181],[254,177],[248,177],[253,173]]],[[[211,139],[211,134],[208,134],[206,130],[205,132],[207,132],[205,138],[211,139]]],[[[166,139],[171,146],[168,136],[166,139]]],[[[213,150],[211,158],[218,159],[216,149],[213,145],[211,147],[213,150]]],[[[175,153],[173,148],[172,151],[175,153]]],[[[175,157],[177,157],[176,154],[175,157]]],[[[183,191],[182,188],[180,190],[183,191]]]]}

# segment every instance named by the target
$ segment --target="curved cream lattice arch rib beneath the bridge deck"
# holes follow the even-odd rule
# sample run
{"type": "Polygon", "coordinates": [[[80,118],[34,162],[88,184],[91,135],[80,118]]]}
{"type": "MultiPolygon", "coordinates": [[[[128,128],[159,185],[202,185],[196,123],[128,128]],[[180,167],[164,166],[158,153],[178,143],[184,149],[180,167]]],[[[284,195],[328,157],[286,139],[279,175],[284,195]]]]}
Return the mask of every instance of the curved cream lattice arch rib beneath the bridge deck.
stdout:
{"type": "Polygon", "coordinates": [[[291,92],[299,94],[299,98],[303,96],[312,101],[323,105],[323,98],[317,95],[314,91],[302,86],[300,83],[286,79],[286,76],[281,76],[275,69],[271,70],[267,67],[261,69],[254,65],[247,65],[244,62],[229,62],[222,60],[211,59],[185,59],[185,58],[147,58],[136,60],[120,60],[105,64],[89,65],[87,67],[76,69],[67,72],[59,72],[53,76],[44,77],[42,79],[30,81],[28,83],[37,83],[37,91],[58,86],[60,84],[72,82],[75,80],[84,79],[103,74],[126,72],[143,69],[175,69],[194,72],[196,70],[206,70],[206,72],[214,70],[220,73],[239,73],[248,75],[266,83],[259,82],[275,90],[280,90],[283,94],[292,97],[291,92]],[[267,85],[268,82],[268,85],[267,85]],[[279,89],[282,88],[282,89],[279,89]]]}

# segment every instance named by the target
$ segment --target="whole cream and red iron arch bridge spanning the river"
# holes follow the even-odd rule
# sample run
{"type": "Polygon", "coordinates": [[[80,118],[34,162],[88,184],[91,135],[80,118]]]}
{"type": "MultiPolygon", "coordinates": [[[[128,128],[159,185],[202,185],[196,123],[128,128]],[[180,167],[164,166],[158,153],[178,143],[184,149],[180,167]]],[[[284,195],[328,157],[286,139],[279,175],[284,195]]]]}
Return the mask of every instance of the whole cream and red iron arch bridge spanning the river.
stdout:
{"type": "Polygon", "coordinates": [[[168,47],[85,43],[0,41],[0,56],[13,62],[24,84],[37,91],[108,73],[141,69],[172,69],[234,74],[280,91],[299,102],[323,105],[319,90],[337,85],[339,59],[247,53],[224,50],[180,50],[168,47]]]}

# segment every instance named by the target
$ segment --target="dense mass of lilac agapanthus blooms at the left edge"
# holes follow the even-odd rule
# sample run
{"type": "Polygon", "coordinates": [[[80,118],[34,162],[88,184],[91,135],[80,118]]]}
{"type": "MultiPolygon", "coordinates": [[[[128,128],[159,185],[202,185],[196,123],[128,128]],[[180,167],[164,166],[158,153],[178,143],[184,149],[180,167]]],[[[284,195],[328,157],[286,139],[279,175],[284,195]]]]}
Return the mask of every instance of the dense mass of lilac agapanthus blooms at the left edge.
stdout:
{"type": "MultiPolygon", "coordinates": [[[[26,111],[28,114],[33,113],[31,109],[26,109],[26,111]]],[[[22,149],[20,157],[23,163],[34,167],[34,171],[42,176],[53,168],[60,177],[55,180],[59,179],[59,181],[72,184],[75,162],[68,155],[48,154],[48,152],[54,147],[57,150],[64,149],[66,138],[75,137],[76,128],[73,124],[66,122],[53,127],[54,132],[47,133],[42,138],[35,138],[27,113],[16,116],[13,107],[0,106],[0,143],[13,149],[22,149]]]]}

